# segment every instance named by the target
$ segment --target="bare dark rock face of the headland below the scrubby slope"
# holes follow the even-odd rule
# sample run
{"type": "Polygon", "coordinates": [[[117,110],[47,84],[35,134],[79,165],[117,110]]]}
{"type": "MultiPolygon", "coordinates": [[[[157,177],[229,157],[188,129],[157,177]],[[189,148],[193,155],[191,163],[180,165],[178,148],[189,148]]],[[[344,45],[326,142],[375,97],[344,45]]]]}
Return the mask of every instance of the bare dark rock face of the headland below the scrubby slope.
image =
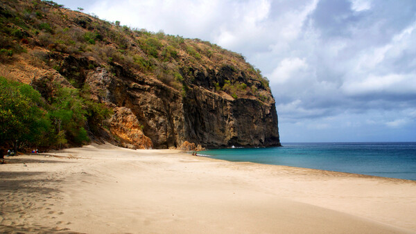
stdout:
{"type": "Polygon", "coordinates": [[[121,66],[116,66],[116,74],[113,77],[98,69],[87,81],[95,85],[97,96],[106,93],[107,102],[130,109],[153,147],[179,147],[184,141],[203,147],[279,145],[274,102],[234,99],[201,85],[189,86],[183,95],[162,82],[128,73],[121,66]],[[109,84],[100,87],[94,84],[97,80],[109,84]]]}

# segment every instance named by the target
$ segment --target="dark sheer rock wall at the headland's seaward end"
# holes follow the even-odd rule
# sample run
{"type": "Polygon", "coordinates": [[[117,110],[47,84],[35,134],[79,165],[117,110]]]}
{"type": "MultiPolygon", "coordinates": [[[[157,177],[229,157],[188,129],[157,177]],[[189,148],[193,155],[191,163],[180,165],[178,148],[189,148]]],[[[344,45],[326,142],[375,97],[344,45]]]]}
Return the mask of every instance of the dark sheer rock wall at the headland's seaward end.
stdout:
{"type": "Polygon", "coordinates": [[[184,100],[184,136],[207,147],[279,144],[274,103],[222,97],[201,87],[184,100]],[[274,126],[274,127],[273,127],[274,126]]]}

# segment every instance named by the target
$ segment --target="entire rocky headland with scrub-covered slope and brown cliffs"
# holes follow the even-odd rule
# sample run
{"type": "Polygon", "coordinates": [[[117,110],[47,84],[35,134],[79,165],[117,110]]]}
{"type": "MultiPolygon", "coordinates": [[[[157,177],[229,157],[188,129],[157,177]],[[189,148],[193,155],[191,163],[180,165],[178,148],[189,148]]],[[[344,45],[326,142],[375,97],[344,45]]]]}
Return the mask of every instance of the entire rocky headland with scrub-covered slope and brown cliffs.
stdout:
{"type": "Polygon", "coordinates": [[[27,52],[8,57],[0,75],[33,84],[45,99],[53,95],[44,90],[51,82],[88,86],[96,102],[114,110],[103,134],[94,137],[132,148],[185,141],[203,147],[280,145],[268,81],[242,55],[199,39],[130,30],[53,3],[1,4],[3,17],[19,8],[43,17],[18,26],[24,39],[13,43],[27,52]],[[45,24],[51,30],[31,33],[45,24]]]}

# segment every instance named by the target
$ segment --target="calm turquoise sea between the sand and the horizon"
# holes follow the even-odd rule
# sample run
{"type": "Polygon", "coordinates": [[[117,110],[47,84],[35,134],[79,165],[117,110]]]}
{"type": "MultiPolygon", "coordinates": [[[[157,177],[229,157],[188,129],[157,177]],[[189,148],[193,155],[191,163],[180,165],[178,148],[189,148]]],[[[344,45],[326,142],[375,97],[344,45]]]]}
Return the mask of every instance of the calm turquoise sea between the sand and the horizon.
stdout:
{"type": "Polygon", "coordinates": [[[368,174],[416,181],[416,143],[282,143],[201,152],[214,159],[368,174]]]}

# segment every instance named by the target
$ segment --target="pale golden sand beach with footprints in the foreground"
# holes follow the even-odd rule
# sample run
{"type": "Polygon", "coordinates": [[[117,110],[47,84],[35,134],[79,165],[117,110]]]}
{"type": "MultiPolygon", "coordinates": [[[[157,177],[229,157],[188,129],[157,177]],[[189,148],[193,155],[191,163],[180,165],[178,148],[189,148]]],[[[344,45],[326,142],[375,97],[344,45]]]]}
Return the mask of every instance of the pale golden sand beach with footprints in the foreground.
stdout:
{"type": "Polygon", "coordinates": [[[88,145],[6,157],[0,232],[416,233],[416,181],[88,145]]]}

